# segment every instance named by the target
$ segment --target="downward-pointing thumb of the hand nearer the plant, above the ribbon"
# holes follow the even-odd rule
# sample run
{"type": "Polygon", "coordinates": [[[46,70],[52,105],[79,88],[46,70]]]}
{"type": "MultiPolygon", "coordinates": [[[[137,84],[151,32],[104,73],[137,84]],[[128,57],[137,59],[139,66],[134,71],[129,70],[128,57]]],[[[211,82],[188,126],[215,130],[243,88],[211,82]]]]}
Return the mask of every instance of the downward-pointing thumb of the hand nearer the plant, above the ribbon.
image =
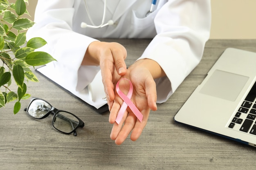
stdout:
{"type": "Polygon", "coordinates": [[[126,49],[121,46],[119,49],[111,49],[113,59],[115,62],[115,68],[119,75],[125,75],[127,67],[124,60],[127,57],[126,49]]]}

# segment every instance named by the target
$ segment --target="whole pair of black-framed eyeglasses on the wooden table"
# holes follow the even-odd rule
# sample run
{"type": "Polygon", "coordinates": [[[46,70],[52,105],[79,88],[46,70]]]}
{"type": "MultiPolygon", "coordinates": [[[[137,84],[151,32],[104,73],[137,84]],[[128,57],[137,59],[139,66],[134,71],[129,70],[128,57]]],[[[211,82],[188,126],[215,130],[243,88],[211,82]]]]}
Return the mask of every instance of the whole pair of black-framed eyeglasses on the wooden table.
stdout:
{"type": "Polygon", "coordinates": [[[64,110],[58,110],[52,107],[44,99],[32,97],[29,106],[24,109],[27,114],[35,119],[44,119],[49,116],[50,113],[54,114],[52,118],[52,126],[65,134],[71,134],[74,132],[76,136],[76,129],[83,127],[84,123],[76,115],[64,110]]]}

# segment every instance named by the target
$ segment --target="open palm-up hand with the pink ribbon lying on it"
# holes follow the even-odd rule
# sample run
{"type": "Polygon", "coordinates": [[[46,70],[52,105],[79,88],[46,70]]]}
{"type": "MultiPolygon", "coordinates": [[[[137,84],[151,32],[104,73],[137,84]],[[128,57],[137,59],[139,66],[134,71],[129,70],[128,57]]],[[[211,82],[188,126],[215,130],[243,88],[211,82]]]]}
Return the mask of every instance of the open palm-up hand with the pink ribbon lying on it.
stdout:
{"type": "MultiPolygon", "coordinates": [[[[142,122],[140,122],[130,108],[127,107],[123,119],[120,124],[117,124],[115,119],[123,100],[115,92],[115,99],[110,110],[109,122],[113,124],[110,138],[115,140],[117,145],[122,144],[130,132],[132,132],[130,135],[132,141],[136,141],[139,138],[142,130],[146,126],[150,109],[157,110],[157,93],[154,78],[162,77],[164,75],[162,68],[160,68],[156,62],[149,59],[143,59],[132,64],[128,68],[127,73],[120,78],[126,78],[132,82],[133,94],[131,101],[142,113],[143,119],[142,122]]],[[[129,90],[128,81],[121,80],[119,88],[124,94],[127,94],[129,90]]]]}

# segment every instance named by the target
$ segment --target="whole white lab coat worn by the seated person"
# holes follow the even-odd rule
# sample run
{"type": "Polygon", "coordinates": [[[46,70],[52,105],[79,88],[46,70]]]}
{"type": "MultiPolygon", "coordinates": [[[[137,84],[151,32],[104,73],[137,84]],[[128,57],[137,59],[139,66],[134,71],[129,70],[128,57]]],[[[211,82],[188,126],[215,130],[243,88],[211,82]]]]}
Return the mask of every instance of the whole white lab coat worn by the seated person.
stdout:
{"type": "MultiPolygon", "coordinates": [[[[87,0],[90,15],[99,25],[104,0],[87,0]]],[[[153,38],[139,59],[158,62],[166,77],[156,79],[157,102],[165,102],[200,62],[211,26],[210,0],[157,0],[155,11],[146,17],[151,0],[107,0],[106,21],[112,26],[81,28],[91,24],[83,0],[38,0],[36,24],[27,38],[41,37],[50,53],[54,74],[77,91],[85,88],[99,71],[98,66],[81,66],[94,38],[153,38]]],[[[128,55],[129,57],[129,55],[128,55]]]]}

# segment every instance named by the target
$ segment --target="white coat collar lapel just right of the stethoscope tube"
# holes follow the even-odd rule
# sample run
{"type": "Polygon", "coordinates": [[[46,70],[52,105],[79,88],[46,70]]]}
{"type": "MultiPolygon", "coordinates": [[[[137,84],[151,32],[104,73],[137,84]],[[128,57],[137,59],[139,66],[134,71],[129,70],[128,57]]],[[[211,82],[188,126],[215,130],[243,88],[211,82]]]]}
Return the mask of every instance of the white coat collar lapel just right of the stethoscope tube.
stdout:
{"type": "Polygon", "coordinates": [[[135,2],[136,0],[120,0],[112,20],[117,21],[135,2]]]}

